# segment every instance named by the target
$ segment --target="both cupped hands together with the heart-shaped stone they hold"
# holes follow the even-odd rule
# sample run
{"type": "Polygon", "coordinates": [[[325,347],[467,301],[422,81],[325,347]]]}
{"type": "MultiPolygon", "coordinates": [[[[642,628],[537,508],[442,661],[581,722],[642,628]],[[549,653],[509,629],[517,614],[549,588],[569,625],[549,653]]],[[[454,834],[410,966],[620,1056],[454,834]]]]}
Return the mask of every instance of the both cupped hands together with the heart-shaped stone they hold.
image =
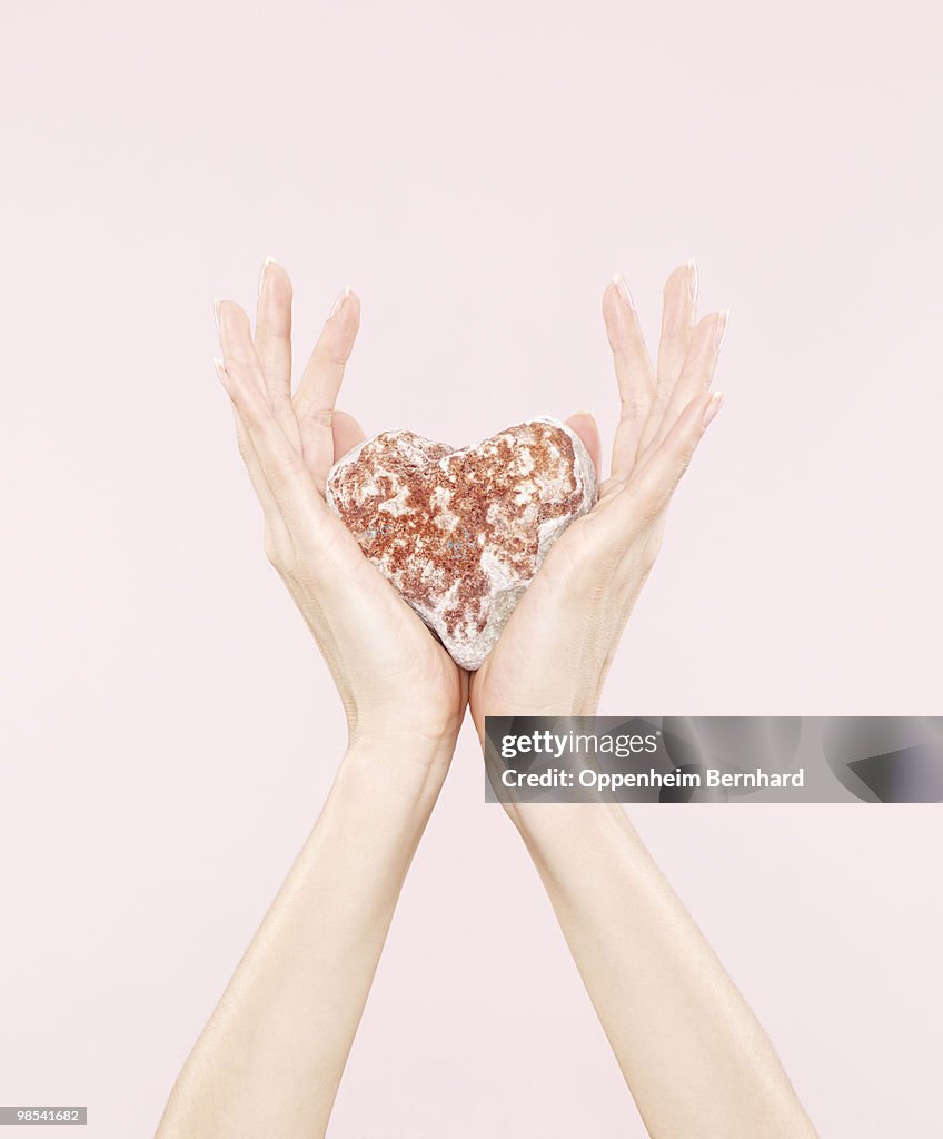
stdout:
{"type": "Polygon", "coordinates": [[[485,715],[596,710],[671,495],[720,405],[710,385],[727,313],[696,322],[696,292],[694,262],[669,277],[657,369],[624,280],[604,294],[621,416],[598,499],[587,412],[462,451],[403,431],[361,446],[360,426],[335,409],[360,320],[350,289],[294,394],[285,270],[263,267],[254,335],[238,305],[216,303],[216,369],[265,550],[321,648],[352,740],[401,732],[448,762],[469,696],[479,732],[485,715]],[[477,667],[470,686],[459,665],[477,667]]]}

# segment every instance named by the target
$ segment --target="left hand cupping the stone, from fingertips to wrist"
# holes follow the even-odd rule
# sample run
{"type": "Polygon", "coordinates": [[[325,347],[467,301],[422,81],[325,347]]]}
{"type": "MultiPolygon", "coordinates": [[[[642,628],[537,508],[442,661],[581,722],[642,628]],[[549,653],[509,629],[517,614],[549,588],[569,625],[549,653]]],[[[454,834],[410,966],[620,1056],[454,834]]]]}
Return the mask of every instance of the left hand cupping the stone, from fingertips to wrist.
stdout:
{"type": "Polygon", "coordinates": [[[294,395],[285,270],[272,261],[262,269],[254,338],[237,304],[215,308],[223,351],[216,370],[262,503],[265,552],[330,669],[351,741],[415,740],[417,754],[448,765],[465,715],[467,674],[325,502],[331,465],[363,439],[356,420],[334,407],[360,301],[350,289],[338,297],[294,395]]]}

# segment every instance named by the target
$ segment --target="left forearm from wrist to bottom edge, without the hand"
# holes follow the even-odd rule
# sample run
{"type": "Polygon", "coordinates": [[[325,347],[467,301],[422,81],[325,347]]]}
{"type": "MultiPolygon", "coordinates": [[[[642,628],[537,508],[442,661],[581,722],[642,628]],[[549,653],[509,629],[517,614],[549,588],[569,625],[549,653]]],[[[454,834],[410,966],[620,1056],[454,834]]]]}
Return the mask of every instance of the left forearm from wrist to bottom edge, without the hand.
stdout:
{"type": "Polygon", "coordinates": [[[408,741],[347,751],[177,1081],[159,1139],[323,1134],[442,771],[408,741]]]}

